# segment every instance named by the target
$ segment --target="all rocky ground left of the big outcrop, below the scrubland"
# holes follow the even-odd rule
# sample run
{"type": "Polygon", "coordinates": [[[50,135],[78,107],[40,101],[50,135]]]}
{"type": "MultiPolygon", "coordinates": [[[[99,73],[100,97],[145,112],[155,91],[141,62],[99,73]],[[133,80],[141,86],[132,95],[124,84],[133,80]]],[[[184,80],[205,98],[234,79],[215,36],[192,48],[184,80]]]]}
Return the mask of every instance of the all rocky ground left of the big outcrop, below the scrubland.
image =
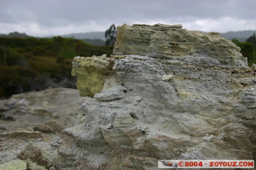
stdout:
{"type": "Polygon", "coordinates": [[[15,159],[22,159],[19,154],[26,145],[26,150],[40,146],[42,152],[50,153],[47,159],[52,159],[62,143],[61,130],[71,117],[81,113],[79,107],[86,99],[75,89],[51,88],[0,100],[0,169],[49,168],[47,164],[39,166],[32,161],[38,157],[35,153],[25,161],[15,159]]]}

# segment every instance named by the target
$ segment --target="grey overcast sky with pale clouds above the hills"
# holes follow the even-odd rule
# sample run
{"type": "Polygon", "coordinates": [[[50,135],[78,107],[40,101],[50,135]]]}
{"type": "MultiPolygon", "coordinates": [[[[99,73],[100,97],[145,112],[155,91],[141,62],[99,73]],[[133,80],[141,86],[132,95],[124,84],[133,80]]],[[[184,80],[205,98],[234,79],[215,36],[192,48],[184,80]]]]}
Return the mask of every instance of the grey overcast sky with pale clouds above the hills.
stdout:
{"type": "Polygon", "coordinates": [[[256,30],[256,0],[0,0],[0,33],[105,31],[115,23],[182,24],[199,31],[256,30]]]}

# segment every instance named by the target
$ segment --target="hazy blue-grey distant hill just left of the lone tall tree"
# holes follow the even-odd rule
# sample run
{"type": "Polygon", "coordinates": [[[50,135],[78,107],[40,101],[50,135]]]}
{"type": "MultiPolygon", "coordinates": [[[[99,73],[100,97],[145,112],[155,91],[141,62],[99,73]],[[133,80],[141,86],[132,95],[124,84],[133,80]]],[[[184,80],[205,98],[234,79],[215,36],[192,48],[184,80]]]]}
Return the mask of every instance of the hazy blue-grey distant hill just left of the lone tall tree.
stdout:
{"type": "Polygon", "coordinates": [[[75,39],[101,39],[103,41],[106,41],[105,38],[105,32],[104,31],[99,31],[99,32],[88,32],[88,33],[70,33],[70,34],[65,34],[61,35],[61,37],[73,37],[75,39]]]}

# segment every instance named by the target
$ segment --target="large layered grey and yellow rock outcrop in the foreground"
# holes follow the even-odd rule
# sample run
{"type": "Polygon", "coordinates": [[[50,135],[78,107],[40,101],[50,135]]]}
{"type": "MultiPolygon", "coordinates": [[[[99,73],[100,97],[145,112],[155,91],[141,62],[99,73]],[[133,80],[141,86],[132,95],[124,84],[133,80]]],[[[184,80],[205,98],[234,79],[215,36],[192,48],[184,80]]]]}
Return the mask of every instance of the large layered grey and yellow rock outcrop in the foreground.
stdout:
{"type": "Polygon", "coordinates": [[[56,167],[157,169],[158,159],[256,158],[255,65],[219,33],[117,27],[113,55],[75,57],[81,96],[56,167]]]}

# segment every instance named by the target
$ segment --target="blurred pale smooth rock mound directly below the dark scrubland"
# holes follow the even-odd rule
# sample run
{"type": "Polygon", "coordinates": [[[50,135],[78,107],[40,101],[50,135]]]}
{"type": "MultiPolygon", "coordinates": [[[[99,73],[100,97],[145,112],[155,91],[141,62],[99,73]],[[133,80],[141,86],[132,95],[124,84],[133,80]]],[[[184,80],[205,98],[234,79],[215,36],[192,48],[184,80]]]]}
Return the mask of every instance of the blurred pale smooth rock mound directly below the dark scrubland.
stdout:
{"type": "MultiPolygon", "coordinates": [[[[50,121],[66,127],[72,116],[81,113],[79,107],[86,99],[79,97],[77,92],[76,89],[52,88],[0,100],[0,132],[50,121]]],[[[60,128],[58,130],[61,131],[60,128]]]]}

